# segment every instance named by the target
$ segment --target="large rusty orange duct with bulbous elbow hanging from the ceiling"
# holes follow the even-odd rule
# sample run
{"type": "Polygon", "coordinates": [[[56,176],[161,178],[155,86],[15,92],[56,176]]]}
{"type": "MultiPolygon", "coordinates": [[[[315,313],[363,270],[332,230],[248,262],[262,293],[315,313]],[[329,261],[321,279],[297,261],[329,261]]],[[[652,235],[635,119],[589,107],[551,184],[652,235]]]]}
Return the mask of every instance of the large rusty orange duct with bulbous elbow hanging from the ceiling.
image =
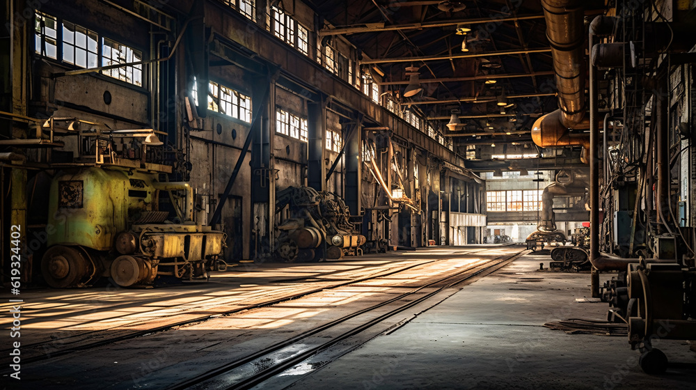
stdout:
{"type": "Polygon", "coordinates": [[[541,0],[546,37],[551,43],[560,109],[541,116],[532,127],[532,140],[541,148],[587,148],[587,136],[569,137],[569,128],[585,127],[585,25],[583,3],[578,0],[541,0]],[[568,136],[568,137],[567,137],[568,136]]]}

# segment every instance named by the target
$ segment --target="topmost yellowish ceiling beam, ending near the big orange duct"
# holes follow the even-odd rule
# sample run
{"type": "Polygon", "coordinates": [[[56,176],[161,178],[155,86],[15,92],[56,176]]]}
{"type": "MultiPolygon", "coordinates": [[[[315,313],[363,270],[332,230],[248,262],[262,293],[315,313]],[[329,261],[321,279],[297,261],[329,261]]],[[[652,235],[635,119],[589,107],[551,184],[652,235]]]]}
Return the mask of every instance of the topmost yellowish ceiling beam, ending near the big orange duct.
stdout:
{"type": "MultiPolygon", "coordinates": [[[[399,3],[399,5],[402,5],[399,3]]],[[[457,26],[457,24],[485,24],[485,23],[502,23],[512,22],[517,20],[534,20],[544,19],[544,15],[521,15],[517,17],[485,17],[480,19],[460,19],[448,21],[408,23],[408,24],[392,24],[386,26],[384,23],[363,23],[354,24],[352,26],[337,26],[331,29],[321,29],[317,33],[319,37],[324,36],[339,36],[344,34],[354,33],[377,33],[381,31],[399,31],[399,30],[417,30],[417,29],[432,29],[436,27],[457,26]]]]}

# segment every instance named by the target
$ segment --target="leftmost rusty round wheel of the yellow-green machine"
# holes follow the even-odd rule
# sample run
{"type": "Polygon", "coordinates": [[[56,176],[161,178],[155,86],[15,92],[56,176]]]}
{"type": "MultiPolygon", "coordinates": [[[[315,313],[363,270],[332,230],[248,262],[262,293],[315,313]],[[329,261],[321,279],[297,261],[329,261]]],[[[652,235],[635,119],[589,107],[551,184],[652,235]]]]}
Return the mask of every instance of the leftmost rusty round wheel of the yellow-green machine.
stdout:
{"type": "Polygon", "coordinates": [[[92,274],[90,261],[75,247],[55,245],[41,259],[41,274],[53,288],[79,287],[92,274]]]}

